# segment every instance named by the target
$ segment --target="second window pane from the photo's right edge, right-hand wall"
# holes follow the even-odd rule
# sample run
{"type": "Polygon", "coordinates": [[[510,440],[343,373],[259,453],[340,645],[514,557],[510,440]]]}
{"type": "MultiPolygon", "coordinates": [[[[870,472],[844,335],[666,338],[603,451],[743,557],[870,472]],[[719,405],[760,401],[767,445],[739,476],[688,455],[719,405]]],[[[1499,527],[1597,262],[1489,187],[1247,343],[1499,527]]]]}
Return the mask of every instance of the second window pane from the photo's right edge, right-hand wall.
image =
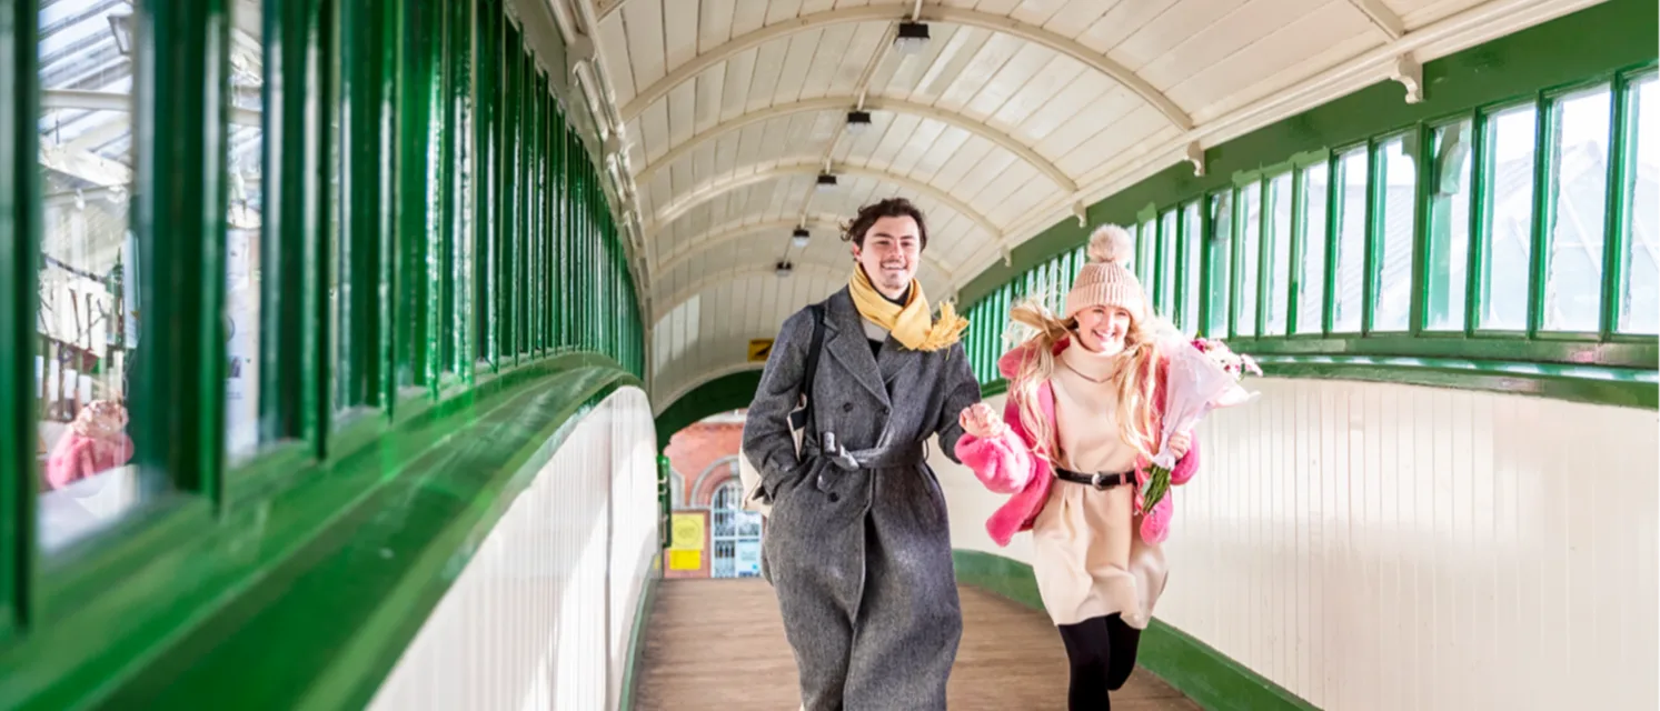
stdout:
{"type": "Polygon", "coordinates": [[[1609,212],[1607,86],[1555,99],[1550,146],[1550,252],[1544,328],[1595,331],[1602,322],[1602,234],[1609,212]]]}

